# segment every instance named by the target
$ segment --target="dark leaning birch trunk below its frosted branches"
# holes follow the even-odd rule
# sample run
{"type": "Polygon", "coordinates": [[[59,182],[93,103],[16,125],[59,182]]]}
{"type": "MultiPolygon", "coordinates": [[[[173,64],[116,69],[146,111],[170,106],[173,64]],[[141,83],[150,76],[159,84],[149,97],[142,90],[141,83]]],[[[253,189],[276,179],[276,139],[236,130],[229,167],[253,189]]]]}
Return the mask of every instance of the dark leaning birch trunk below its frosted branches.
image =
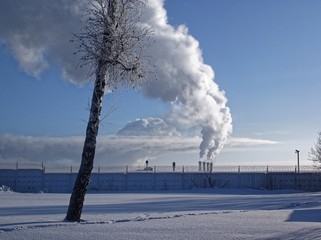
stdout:
{"type": "Polygon", "coordinates": [[[86,139],[82,152],[82,159],[77,179],[70,197],[66,219],[67,221],[80,221],[85,194],[94,166],[96,138],[98,134],[100,112],[106,85],[106,66],[100,61],[96,72],[96,81],[91,100],[90,116],[87,124],[86,139]]]}

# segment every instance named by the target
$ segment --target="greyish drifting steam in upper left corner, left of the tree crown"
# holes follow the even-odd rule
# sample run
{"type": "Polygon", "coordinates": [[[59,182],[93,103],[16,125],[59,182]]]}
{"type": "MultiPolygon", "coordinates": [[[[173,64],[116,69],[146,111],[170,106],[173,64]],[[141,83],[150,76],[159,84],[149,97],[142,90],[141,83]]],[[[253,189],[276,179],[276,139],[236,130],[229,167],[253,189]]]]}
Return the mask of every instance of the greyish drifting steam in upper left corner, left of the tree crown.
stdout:
{"type": "Polygon", "coordinates": [[[0,1],[0,44],[10,48],[28,75],[39,78],[56,64],[65,80],[84,82],[86,70],[77,68],[79,57],[73,54],[70,39],[80,31],[80,15],[87,4],[86,0],[0,1]]]}

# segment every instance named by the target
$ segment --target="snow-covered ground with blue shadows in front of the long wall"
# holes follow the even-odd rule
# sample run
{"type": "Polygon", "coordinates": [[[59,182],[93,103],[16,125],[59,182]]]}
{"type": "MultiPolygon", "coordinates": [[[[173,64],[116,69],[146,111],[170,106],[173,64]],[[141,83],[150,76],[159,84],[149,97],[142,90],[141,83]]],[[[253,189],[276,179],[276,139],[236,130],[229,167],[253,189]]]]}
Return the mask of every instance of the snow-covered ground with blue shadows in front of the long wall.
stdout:
{"type": "Polygon", "coordinates": [[[0,239],[321,239],[320,192],[89,193],[81,223],[68,201],[0,191],[0,239]]]}

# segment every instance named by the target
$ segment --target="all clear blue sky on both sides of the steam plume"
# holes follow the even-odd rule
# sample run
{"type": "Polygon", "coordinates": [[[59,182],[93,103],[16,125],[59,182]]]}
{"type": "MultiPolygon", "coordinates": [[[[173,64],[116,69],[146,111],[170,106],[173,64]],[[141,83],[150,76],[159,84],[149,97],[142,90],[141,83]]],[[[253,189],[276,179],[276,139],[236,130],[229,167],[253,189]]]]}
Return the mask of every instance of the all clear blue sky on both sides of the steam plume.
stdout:
{"type": "MultiPolygon", "coordinates": [[[[0,6],[5,7],[5,2],[0,6]]],[[[302,164],[309,165],[307,153],[321,122],[321,2],[167,0],[165,9],[169,24],[184,24],[198,40],[204,63],[214,70],[231,110],[230,139],[248,140],[226,144],[215,162],[294,165],[294,150],[299,149],[302,164]]],[[[5,29],[10,24],[4,21],[0,18],[0,135],[83,136],[92,84],[64,80],[62,63],[54,58],[45,71],[30,76],[12,54],[5,29]]],[[[59,38],[68,41],[68,36],[59,38]]],[[[163,117],[170,108],[139,90],[107,95],[104,113],[112,106],[117,109],[102,121],[102,136],[114,135],[138,118],[163,117]]],[[[4,143],[1,161],[12,161],[5,157],[4,143]]],[[[164,151],[150,157],[155,164],[174,159],[190,165],[197,163],[198,150],[164,151]]]]}

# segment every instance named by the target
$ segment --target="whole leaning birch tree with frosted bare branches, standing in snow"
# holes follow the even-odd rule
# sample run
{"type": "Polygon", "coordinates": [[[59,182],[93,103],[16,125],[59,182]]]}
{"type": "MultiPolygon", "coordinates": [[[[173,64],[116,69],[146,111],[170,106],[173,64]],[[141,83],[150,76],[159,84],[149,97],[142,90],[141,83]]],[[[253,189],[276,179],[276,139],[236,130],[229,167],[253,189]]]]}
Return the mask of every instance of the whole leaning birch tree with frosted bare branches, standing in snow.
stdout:
{"type": "Polygon", "coordinates": [[[67,221],[80,221],[93,169],[96,138],[105,89],[136,87],[146,80],[146,50],[150,29],[139,23],[144,0],[92,0],[82,19],[82,32],[74,35],[80,66],[94,79],[90,115],[81,165],[70,197],[67,221]]]}

